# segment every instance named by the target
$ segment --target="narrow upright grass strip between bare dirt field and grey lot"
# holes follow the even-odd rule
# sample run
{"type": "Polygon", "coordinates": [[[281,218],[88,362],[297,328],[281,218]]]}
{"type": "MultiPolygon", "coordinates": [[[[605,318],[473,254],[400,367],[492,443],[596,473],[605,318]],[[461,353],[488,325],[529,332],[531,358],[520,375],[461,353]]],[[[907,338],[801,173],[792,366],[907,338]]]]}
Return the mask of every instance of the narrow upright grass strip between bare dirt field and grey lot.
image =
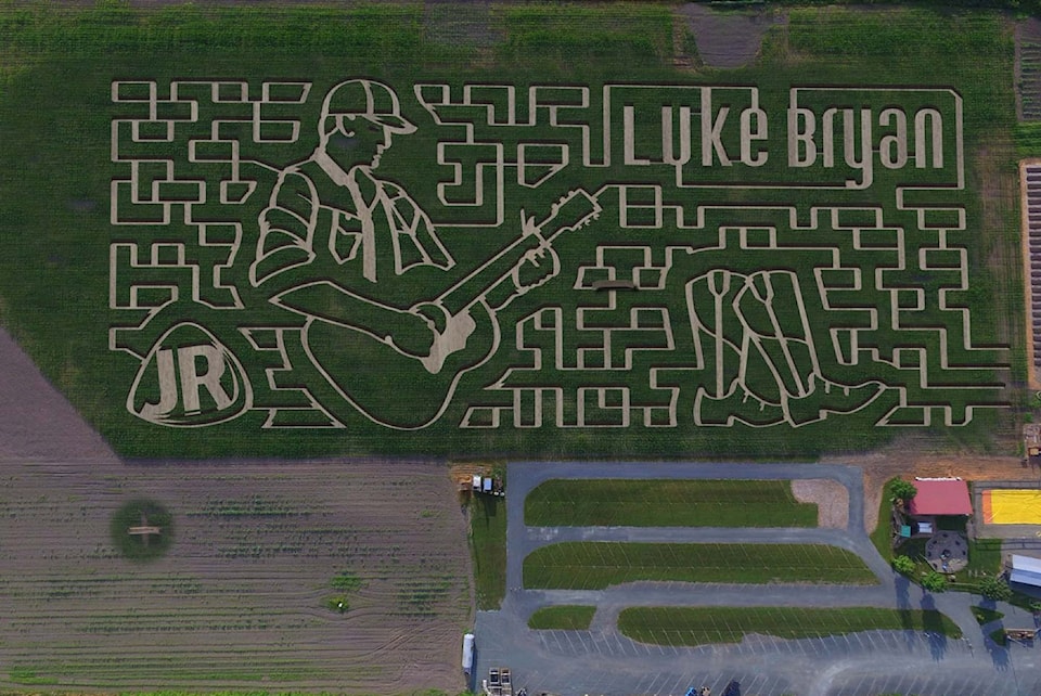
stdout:
{"type": "Polygon", "coordinates": [[[506,501],[474,495],[470,503],[470,547],[478,609],[498,609],[506,595],[506,501]]]}

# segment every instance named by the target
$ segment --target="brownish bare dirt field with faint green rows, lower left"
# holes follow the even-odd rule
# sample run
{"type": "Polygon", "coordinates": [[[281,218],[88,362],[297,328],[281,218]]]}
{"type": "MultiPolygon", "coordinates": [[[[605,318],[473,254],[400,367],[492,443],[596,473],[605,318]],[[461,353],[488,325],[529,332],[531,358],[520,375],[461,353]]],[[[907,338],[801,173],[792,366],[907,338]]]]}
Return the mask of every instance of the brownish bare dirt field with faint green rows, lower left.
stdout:
{"type": "Polygon", "coordinates": [[[0,334],[0,686],[463,689],[446,467],[125,464],[26,363],[0,334]],[[139,497],[174,516],[147,565],[110,536],[139,497]],[[345,615],[323,606],[343,571],[361,580],[345,615]]]}

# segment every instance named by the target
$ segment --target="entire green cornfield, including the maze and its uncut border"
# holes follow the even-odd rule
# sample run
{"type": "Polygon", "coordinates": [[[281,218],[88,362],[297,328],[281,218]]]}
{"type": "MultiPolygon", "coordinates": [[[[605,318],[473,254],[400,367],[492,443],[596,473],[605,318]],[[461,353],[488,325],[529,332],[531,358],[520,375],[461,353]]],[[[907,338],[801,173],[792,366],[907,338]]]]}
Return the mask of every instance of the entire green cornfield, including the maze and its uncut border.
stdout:
{"type": "Polygon", "coordinates": [[[980,143],[1014,119],[992,16],[936,33],[950,60],[872,72],[901,40],[878,17],[851,29],[860,55],[859,15],[794,11],[720,73],[671,60],[698,20],[664,5],[586,17],[586,49],[574,8],[177,12],[192,31],[130,8],[11,20],[35,62],[8,156],[76,164],[4,184],[10,219],[69,230],[18,247],[43,278],[5,286],[10,321],[123,452],[813,453],[991,434],[1013,401],[1017,330],[989,311],[1013,300],[987,265],[1004,214],[980,196],[1007,176],[980,143]],[[89,80],[65,83],[31,39],[49,30],[89,80]],[[50,136],[26,119],[41,100],[50,136]],[[76,292],[25,307],[44,283],[76,292]]]}

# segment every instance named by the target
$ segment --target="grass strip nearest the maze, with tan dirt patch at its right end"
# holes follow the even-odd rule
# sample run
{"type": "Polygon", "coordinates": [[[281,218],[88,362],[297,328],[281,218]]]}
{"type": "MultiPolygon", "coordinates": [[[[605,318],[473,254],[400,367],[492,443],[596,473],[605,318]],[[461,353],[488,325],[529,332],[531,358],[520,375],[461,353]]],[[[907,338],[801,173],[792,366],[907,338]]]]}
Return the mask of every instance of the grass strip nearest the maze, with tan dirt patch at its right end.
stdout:
{"type": "Polygon", "coordinates": [[[791,481],[545,481],[524,501],[535,526],[815,527],[817,505],[800,503],[791,481]]]}

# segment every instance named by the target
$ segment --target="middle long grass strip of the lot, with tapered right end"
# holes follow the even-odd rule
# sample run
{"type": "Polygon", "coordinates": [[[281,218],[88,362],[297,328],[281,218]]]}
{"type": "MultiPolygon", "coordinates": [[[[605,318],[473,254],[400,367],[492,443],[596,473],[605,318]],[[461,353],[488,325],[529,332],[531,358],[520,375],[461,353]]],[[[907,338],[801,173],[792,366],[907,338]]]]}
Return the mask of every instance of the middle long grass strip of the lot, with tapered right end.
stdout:
{"type": "Polygon", "coordinates": [[[821,544],[564,542],[524,559],[529,589],[602,590],[640,580],[874,584],[853,553],[821,544]]]}

